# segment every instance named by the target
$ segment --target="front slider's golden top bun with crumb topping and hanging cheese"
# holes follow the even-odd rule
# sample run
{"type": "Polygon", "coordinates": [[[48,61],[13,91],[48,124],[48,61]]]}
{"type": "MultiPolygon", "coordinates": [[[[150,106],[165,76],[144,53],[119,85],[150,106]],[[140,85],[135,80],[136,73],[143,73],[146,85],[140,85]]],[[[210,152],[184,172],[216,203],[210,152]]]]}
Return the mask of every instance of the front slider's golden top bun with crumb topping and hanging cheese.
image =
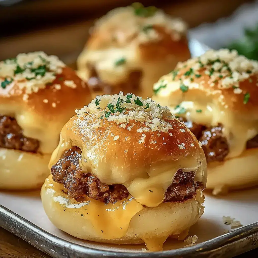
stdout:
{"type": "Polygon", "coordinates": [[[157,206],[179,168],[206,184],[206,160],[195,136],[151,99],[97,96],[63,127],[50,167],[78,146],[83,171],[106,184],[124,184],[140,203],[157,206]],[[150,199],[150,193],[155,192],[150,199]]]}

